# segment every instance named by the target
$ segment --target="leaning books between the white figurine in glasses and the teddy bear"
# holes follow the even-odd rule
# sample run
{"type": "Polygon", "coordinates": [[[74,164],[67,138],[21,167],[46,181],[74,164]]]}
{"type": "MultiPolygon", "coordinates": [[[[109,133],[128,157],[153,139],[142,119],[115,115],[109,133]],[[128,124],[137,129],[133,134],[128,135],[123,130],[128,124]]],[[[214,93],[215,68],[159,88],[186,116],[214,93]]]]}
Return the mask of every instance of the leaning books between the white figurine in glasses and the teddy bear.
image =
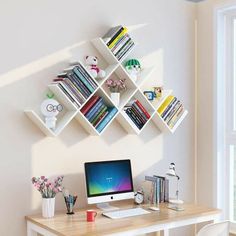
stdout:
{"type": "Polygon", "coordinates": [[[86,69],[78,64],[58,74],[57,83],[66,96],[79,108],[98,87],[86,69]]]}

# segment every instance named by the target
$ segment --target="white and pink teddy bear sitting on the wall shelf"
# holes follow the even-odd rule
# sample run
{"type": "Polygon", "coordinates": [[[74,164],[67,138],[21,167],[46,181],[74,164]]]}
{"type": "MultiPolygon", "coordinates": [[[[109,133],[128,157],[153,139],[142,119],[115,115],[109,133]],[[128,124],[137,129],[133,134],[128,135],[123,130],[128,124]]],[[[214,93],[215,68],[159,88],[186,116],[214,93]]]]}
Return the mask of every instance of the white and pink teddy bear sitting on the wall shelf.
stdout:
{"type": "Polygon", "coordinates": [[[86,69],[93,76],[93,78],[104,78],[106,76],[106,72],[101,70],[98,64],[98,58],[96,56],[86,56],[85,57],[86,69]]]}

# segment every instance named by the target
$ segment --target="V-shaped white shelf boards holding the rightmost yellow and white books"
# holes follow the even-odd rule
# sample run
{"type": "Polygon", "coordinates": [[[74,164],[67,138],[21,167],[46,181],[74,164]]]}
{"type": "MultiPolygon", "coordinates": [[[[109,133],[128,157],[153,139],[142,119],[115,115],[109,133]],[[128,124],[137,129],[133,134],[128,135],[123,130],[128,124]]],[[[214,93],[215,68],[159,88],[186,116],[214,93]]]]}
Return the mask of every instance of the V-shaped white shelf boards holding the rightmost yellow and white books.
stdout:
{"type": "Polygon", "coordinates": [[[187,116],[188,111],[184,110],[183,114],[179,118],[179,120],[176,122],[173,128],[170,128],[168,124],[164,121],[164,119],[156,112],[153,117],[152,117],[152,122],[157,126],[159,130],[162,132],[167,132],[167,133],[174,133],[176,129],[180,126],[184,118],[187,116]]]}

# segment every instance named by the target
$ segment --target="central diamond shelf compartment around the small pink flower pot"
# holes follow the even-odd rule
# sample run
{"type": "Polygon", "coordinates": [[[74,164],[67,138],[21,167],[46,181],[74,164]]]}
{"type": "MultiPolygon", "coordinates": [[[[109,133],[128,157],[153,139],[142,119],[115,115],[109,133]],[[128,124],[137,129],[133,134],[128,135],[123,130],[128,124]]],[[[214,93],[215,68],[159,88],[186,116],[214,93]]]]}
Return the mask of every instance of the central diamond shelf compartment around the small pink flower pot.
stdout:
{"type": "MultiPolygon", "coordinates": [[[[125,84],[127,86],[127,89],[120,93],[120,103],[119,103],[119,110],[125,106],[125,104],[130,100],[130,98],[134,95],[134,93],[137,90],[137,87],[135,83],[127,76],[127,74],[122,70],[122,67],[119,66],[115,73],[113,73],[108,79],[113,80],[119,80],[119,79],[125,79],[125,84]]],[[[104,81],[102,85],[102,89],[104,93],[106,93],[108,96],[111,96],[111,92],[109,88],[106,85],[106,81],[104,81]]]]}

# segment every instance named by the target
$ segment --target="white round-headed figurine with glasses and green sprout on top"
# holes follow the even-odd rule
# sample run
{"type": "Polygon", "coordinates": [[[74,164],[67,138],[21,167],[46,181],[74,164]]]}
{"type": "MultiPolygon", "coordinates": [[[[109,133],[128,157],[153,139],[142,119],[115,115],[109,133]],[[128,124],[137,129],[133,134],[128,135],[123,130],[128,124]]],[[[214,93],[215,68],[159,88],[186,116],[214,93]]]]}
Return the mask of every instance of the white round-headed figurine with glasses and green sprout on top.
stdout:
{"type": "Polygon", "coordinates": [[[45,116],[46,126],[54,130],[56,128],[56,116],[63,110],[63,107],[57,100],[53,99],[54,94],[47,94],[47,97],[41,104],[41,112],[45,116]]]}

